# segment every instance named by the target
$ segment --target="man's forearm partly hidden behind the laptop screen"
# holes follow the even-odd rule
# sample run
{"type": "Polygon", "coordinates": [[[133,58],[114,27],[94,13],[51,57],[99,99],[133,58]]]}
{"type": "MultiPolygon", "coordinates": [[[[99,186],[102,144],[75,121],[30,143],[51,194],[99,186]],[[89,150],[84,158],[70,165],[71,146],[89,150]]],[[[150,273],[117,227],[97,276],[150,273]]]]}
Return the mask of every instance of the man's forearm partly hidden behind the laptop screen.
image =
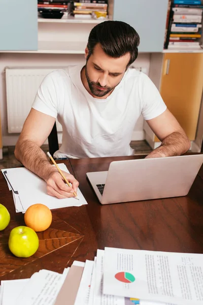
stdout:
{"type": "Polygon", "coordinates": [[[180,156],[190,148],[190,141],[182,132],[174,132],[167,136],[161,145],[154,149],[147,157],[172,157],[180,156]]]}

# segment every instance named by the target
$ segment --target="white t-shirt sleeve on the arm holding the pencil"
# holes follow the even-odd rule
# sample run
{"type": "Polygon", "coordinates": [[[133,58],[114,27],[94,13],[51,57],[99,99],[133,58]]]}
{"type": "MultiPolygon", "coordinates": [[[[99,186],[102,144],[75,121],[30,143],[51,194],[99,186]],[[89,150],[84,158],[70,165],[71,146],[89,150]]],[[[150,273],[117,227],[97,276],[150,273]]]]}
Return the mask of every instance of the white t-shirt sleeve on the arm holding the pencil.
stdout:
{"type": "Polygon", "coordinates": [[[58,100],[57,100],[57,81],[54,81],[56,72],[51,72],[43,79],[32,108],[40,112],[57,117],[58,100]]]}

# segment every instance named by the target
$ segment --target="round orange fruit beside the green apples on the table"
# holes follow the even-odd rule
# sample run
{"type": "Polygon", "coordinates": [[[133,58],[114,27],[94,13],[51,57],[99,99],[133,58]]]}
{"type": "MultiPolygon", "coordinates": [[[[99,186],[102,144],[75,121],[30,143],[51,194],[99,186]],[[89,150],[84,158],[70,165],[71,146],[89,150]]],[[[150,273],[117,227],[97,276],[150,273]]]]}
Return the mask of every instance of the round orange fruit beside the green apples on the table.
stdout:
{"type": "Polygon", "coordinates": [[[25,212],[24,221],[27,227],[36,232],[45,231],[52,222],[51,210],[41,203],[32,204],[25,212]]]}

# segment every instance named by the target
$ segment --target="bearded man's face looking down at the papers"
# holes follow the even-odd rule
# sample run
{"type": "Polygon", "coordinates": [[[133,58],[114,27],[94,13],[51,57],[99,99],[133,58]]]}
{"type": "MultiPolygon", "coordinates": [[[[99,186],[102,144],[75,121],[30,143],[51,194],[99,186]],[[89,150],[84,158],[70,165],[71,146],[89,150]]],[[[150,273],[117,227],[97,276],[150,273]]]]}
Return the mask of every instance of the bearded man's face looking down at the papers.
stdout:
{"type": "MultiPolygon", "coordinates": [[[[88,55],[88,49],[85,50],[88,55]]],[[[97,44],[85,66],[85,76],[93,96],[105,98],[120,83],[130,60],[130,54],[109,57],[97,44]]]]}

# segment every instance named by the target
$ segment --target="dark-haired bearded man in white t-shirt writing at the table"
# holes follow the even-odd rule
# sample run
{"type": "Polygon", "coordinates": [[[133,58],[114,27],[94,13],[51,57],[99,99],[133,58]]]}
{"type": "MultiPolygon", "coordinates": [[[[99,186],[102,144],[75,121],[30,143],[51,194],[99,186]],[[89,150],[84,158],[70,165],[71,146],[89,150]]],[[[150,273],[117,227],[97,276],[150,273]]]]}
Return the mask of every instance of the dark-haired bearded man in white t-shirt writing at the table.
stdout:
{"type": "Polygon", "coordinates": [[[140,37],[128,24],[105,21],[90,32],[86,65],[51,72],[43,80],[15,149],[16,158],[47,182],[49,195],[73,197],[78,181],[50,165],[40,146],[56,117],[62,145],[55,157],[85,158],[132,155],[129,143],[140,114],[162,141],[147,158],[185,153],[190,142],[152,81],[129,69],[138,56],[140,37]]]}

